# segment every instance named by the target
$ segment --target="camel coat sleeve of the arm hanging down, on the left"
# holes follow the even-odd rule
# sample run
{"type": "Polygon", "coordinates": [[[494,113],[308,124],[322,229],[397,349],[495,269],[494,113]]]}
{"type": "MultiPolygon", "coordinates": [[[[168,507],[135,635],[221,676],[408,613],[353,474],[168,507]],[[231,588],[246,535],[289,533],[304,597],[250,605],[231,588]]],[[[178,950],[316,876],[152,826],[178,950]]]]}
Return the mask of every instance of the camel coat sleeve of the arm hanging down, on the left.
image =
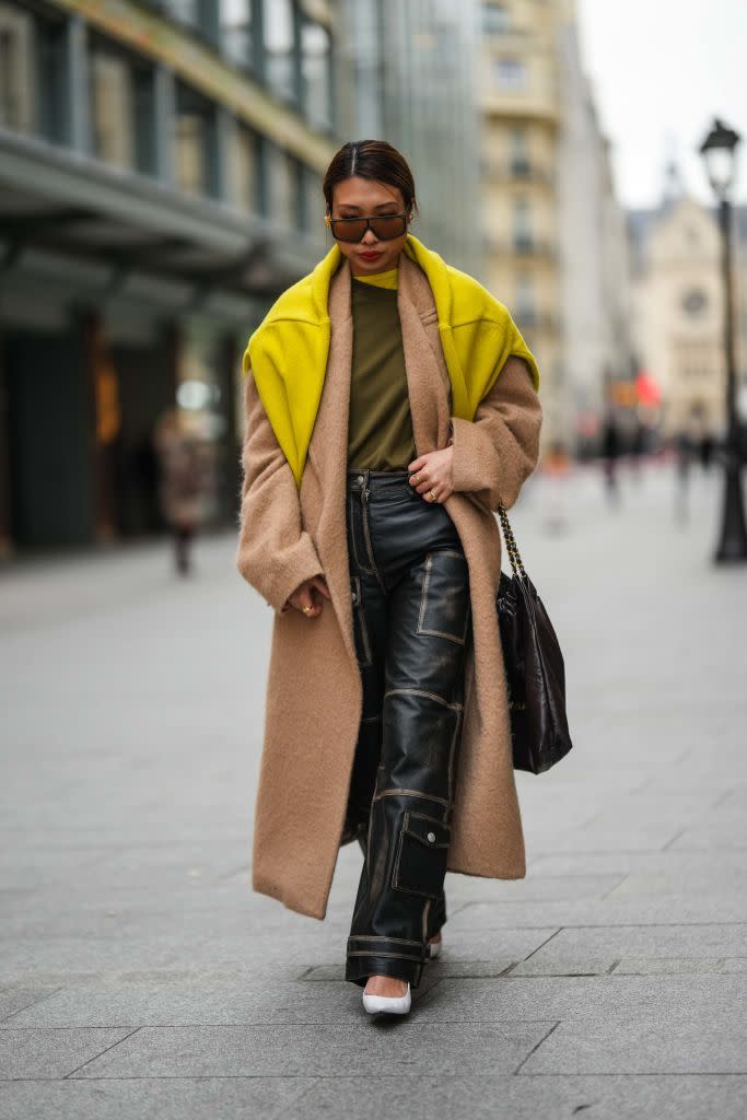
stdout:
{"type": "Polygon", "coordinates": [[[251,367],[244,391],[246,432],[242,451],[236,567],[279,614],[289,595],[321,575],[314,542],[301,524],[298,487],[256,390],[251,367]]]}

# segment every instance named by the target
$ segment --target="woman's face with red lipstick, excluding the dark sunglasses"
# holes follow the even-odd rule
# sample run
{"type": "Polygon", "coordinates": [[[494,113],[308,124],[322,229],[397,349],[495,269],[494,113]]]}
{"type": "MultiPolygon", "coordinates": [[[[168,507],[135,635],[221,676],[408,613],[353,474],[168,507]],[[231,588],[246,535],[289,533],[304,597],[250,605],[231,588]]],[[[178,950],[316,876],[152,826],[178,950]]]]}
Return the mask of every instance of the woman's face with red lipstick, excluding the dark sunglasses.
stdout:
{"type": "MultiPolygon", "coordinates": [[[[403,214],[404,199],[399,187],[374,183],[357,175],[338,183],[333,193],[332,217],[373,217],[377,214],[403,214]]],[[[408,226],[409,226],[408,220],[408,226]]],[[[407,228],[401,237],[380,241],[373,230],[366,230],[363,241],[338,241],[339,251],[351,262],[353,276],[385,272],[398,265],[407,241],[407,228]],[[376,254],[370,259],[364,253],[376,254]]]]}

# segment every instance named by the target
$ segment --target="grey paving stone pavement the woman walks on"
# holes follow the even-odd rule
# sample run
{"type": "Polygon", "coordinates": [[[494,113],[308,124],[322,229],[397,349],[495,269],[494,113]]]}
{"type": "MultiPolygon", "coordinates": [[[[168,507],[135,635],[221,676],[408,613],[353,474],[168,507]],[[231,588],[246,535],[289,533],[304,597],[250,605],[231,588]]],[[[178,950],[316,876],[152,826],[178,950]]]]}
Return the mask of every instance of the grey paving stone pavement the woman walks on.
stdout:
{"type": "Polygon", "coordinates": [[[527,877],[449,875],[403,1021],[343,980],[360,856],[324,923],[252,894],[271,615],[199,542],[0,576],[0,1120],[747,1116],[747,568],[720,482],[619,507],[578,470],[512,514],[566,654],[575,749],[520,774],[527,877]]]}

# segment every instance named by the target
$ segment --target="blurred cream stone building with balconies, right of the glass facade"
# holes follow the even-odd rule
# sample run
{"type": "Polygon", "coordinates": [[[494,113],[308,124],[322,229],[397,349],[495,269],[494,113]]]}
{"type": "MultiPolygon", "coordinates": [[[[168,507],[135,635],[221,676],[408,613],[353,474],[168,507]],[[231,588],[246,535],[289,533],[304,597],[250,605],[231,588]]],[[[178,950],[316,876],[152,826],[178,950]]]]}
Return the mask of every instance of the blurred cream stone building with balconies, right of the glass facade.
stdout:
{"type": "Polygon", "coordinates": [[[582,454],[632,362],[625,216],[575,0],[484,0],[479,74],[484,281],[538,356],[544,446],[582,454]]]}

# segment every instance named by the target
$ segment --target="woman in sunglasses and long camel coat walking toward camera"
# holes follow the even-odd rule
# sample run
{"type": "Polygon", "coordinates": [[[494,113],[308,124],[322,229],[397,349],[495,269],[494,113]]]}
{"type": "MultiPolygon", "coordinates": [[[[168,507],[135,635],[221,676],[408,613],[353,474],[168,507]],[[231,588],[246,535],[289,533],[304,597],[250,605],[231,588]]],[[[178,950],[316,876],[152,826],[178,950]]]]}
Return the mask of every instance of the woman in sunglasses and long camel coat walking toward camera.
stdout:
{"type": "Polygon", "coordinates": [[[236,563],[274,610],[252,884],[323,918],[357,839],[346,978],[404,1014],[447,868],[525,874],[494,511],[536,465],[539,371],[505,306],[409,232],[394,148],[346,143],[323,190],[335,242],[244,355],[236,563]]]}

